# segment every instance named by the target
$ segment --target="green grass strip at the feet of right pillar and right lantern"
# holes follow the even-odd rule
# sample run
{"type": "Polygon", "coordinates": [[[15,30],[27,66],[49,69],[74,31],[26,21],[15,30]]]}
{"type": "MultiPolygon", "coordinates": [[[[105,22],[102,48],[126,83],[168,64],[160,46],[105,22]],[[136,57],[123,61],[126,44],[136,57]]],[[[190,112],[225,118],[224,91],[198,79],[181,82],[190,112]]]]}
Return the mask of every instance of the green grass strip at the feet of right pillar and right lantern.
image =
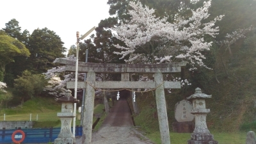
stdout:
{"type": "MultiPolygon", "coordinates": [[[[212,134],[214,135],[214,140],[218,141],[219,144],[244,144],[246,141],[246,132],[212,132],[212,134]]],[[[160,132],[152,132],[146,134],[146,136],[155,143],[161,144],[160,132]]],[[[170,132],[170,138],[172,144],[187,144],[190,134],[170,132]]]]}

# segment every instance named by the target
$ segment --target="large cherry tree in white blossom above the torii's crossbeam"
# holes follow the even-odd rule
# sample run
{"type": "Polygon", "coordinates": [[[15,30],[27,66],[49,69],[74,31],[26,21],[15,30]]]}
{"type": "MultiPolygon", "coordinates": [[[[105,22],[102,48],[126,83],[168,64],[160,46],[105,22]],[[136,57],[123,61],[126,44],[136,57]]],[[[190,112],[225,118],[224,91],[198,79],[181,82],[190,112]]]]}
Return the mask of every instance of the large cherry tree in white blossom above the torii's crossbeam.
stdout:
{"type": "Polygon", "coordinates": [[[113,28],[116,38],[125,45],[115,45],[122,52],[114,52],[128,56],[127,63],[163,63],[164,61],[188,61],[192,68],[196,65],[208,68],[203,60],[202,51],[209,51],[212,42],[204,40],[205,36],[218,35],[218,27],[214,28],[216,21],[223,15],[213,20],[209,17],[211,0],[204,2],[204,6],[191,10],[192,16],[188,19],[177,15],[175,22],[167,22],[167,17],[162,19],[154,15],[154,9],[143,6],[140,1],[130,2],[129,10],[131,20],[121,22],[120,26],[113,28]],[[208,22],[202,22],[208,21],[208,22]]]}

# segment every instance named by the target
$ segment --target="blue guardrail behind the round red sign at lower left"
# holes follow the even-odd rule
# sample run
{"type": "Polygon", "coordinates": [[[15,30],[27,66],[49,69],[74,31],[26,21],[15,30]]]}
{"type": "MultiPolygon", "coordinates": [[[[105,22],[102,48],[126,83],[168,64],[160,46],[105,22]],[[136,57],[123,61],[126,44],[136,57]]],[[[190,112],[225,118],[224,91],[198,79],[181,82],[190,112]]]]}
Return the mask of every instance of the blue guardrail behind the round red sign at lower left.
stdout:
{"type": "MultiPolygon", "coordinates": [[[[0,143],[13,143],[12,134],[18,129],[0,129],[0,143]]],[[[39,129],[19,129],[25,133],[22,143],[48,143],[53,142],[60,134],[60,127],[39,128],[39,129]]],[[[76,136],[82,136],[83,127],[76,127],[76,136]]]]}

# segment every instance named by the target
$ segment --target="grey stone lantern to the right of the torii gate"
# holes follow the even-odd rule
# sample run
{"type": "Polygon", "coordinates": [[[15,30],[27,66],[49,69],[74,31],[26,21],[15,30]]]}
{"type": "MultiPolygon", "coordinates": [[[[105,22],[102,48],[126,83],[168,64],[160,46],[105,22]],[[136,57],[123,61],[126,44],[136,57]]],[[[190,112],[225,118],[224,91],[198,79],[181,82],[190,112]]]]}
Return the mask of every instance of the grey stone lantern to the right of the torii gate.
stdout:
{"type": "Polygon", "coordinates": [[[206,95],[201,92],[200,88],[196,88],[195,94],[187,98],[193,101],[191,114],[195,116],[195,130],[191,134],[191,140],[188,140],[188,144],[218,144],[218,141],[214,141],[206,124],[206,115],[210,113],[210,109],[205,109],[205,99],[211,97],[212,95],[206,95]]]}

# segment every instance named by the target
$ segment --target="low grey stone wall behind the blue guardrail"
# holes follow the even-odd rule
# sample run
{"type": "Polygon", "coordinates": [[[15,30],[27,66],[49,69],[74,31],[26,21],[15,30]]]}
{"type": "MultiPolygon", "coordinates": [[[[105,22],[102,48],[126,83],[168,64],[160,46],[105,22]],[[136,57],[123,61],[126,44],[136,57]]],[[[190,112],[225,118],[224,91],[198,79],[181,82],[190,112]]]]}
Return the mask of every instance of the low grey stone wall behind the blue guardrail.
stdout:
{"type": "Polygon", "coordinates": [[[33,128],[33,121],[0,121],[0,129],[21,129],[33,128]]]}

